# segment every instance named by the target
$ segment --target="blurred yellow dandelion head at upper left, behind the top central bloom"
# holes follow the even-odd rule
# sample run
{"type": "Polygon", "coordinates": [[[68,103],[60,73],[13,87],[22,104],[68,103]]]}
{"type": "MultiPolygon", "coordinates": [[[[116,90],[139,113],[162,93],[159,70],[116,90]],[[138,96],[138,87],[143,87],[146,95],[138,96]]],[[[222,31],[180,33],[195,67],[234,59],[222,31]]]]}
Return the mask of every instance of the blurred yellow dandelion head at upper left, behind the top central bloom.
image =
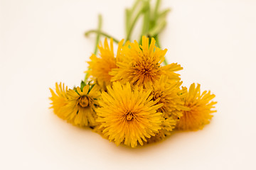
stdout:
{"type": "Polygon", "coordinates": [[[100,57],[93,54],[90,57],[90,62],[87,62],[89,64],[87,71],[88,75],[91,76],[92,80],[94,80],[102,89],[106,89],[106,86],[110,85],[112,76],[109,72],[112,69],[117,68],[117,60],[122,53],[123,42],[124,40],[119,42],[117,57],[114,57],[113,39],[110,39],[109,45],[106,38],[104,45],[100,42],[100,45],[98,46],[100,57]]]}

